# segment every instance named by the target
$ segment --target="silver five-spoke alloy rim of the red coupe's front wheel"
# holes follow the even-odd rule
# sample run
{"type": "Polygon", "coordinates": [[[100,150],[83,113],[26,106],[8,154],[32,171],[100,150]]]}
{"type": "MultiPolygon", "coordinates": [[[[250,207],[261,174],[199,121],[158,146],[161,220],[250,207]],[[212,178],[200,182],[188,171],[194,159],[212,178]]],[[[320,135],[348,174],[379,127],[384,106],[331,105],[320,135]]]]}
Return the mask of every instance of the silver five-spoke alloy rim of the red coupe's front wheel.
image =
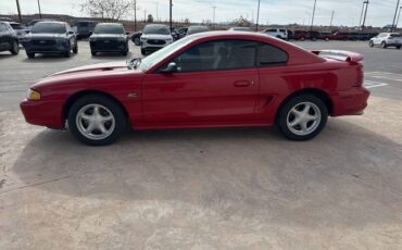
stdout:
{"type": "Polygon", "coordinates": [[[83,107],[75,122],[79,133],[92,140],[108,138],[113,133],[116,123],[113,113],[101,104],[83,107]]]}

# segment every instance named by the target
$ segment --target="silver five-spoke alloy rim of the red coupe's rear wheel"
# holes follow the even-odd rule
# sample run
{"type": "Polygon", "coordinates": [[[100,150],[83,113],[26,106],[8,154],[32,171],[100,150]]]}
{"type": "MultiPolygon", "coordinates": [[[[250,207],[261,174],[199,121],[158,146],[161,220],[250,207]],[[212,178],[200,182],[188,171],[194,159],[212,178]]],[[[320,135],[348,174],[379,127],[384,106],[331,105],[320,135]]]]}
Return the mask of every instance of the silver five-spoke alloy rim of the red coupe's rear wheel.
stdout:
{"type": "Polygon", "coordinates": [[[298,136],[306,136],[319,126],[322,113],[319,108],[312,102],[296,104],[287,115],[287,126],[298,136]]]}

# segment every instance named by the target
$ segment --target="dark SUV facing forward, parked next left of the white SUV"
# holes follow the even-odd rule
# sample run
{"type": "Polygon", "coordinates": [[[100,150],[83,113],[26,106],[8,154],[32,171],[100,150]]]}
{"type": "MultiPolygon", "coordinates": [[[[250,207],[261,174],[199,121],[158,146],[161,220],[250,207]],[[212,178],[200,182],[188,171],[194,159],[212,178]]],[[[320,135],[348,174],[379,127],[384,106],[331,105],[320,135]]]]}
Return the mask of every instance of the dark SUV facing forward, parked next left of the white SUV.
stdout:
{"type": "Polygon", "coordinates": [[[128,37],[122,24],[100,23],[89,37],[91,54],[97,52],[121,52],[126,55],[128,52],[128,37]]]}

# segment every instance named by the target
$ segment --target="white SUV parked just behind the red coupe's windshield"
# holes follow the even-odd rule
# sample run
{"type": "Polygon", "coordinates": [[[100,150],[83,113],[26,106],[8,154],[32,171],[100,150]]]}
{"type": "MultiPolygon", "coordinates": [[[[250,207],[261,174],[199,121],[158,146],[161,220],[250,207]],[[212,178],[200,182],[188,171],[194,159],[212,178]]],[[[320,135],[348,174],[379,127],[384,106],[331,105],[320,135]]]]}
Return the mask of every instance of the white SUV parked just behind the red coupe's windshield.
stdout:
{"type": "Polygon", "coordinates": [[[171,29],[162,24],[147,25],[141,35],[141,54],[154,52],[173,42],[171,29]]]}

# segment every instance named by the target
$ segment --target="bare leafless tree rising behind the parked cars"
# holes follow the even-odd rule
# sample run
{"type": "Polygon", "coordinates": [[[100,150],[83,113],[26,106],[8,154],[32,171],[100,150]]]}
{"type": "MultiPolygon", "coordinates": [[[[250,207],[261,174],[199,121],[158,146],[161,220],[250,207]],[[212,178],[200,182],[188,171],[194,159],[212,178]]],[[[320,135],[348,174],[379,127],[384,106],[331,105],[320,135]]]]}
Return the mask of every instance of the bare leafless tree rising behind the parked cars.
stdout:
{"type": "Polygon", "coordinates": [[[120,20],[133,9],[128,0],[84,0],[80,4],[83,12],[102,20],[120,20]]]}

